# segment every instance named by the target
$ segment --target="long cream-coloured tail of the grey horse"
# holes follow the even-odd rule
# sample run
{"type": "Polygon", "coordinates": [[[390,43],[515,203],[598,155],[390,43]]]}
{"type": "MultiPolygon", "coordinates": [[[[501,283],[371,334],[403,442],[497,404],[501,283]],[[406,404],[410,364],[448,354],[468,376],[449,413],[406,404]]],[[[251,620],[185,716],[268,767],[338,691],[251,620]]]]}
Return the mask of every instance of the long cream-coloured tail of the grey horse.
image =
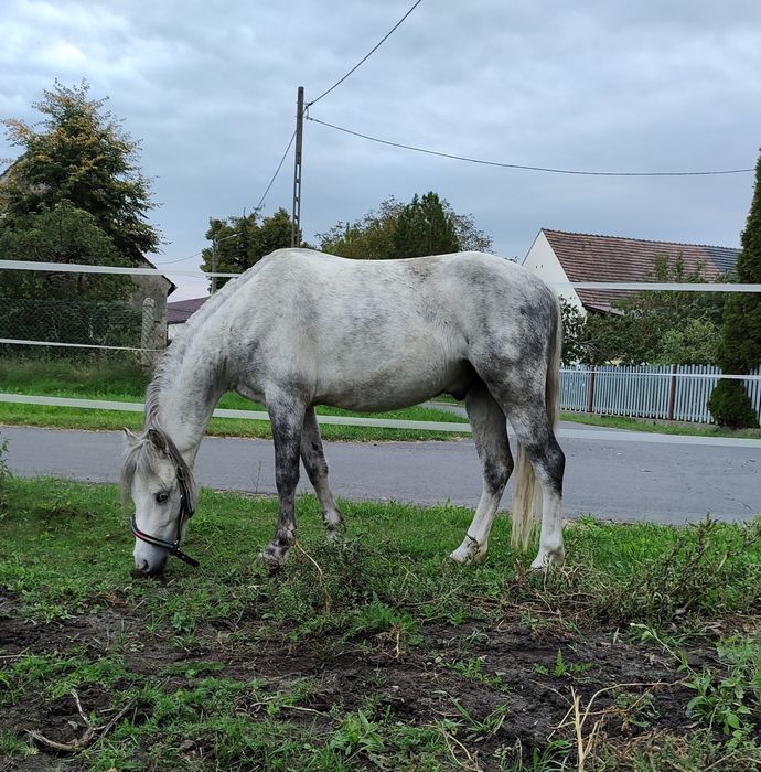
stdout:
{"type": "MultiPolygon", "coordinates": [[[[556,302],[557,317],[547,352],[547,377],[545,380],[545,406],[553,431],[556,431],[560,418],[560,357],[562,354],[562,313],[560,301],[556,302]]],[[[534,524],[542,518],[542,486],[538,484],[534,468],[519,442],[515,465],[511,545],[514,549],[526,551],[532,540],[534,524]]]]}

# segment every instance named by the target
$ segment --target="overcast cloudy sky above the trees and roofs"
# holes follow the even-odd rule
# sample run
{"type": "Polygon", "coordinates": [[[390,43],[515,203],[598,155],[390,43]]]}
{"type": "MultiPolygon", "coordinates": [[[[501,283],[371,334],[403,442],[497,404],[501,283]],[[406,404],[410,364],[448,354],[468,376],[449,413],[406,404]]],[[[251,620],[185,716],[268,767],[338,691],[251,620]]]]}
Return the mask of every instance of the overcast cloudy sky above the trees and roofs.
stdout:
{"type": "MultiPolygon", "coordinates": [[[[317,98],[412,0],[2,0],[0,117],[39,119],[57,78],[142,140],[162,266],[195,268],[210,216],[250,212],[317,98]],[[189,257],[182,262],[175,262],[189,257]]],[[[422,0],[311,115],[394,142],[503,163],[588,171],[755,165],[759,0],[422,0]]],[[[0,158],[18,150],[0,139],[0,158]]],[[[289,154],[264,214],[290,211],[289,154]]],[[[542,227],[737,246],[751,173],[570,176],[372,143],[308,121],[302,228],[314,242],[390,195],[433,190],[521,259],[542,227]]],[[[169,271],[169,268],[168,268],[169,271]]],[[[170,272],[168,276],[172,277],[170,272]]],[[[173,299],[205,293],[172,277],[173,299]]]]}

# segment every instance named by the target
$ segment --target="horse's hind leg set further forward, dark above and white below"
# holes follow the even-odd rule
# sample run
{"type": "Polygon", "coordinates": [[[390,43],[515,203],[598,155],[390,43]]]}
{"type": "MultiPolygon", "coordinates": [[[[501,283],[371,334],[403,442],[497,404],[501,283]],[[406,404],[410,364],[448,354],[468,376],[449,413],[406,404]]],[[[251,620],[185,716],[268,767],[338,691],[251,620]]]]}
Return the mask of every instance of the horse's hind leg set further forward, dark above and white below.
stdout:
{"type": "Polygon", "coordinates": [[[465,407],[481,460],[483,490],[464,540],[450,555],[452,560],[462,564],[485,557],[494,515],[513,471],[505,414],[483,382],[468,392],[465,407]]]}

